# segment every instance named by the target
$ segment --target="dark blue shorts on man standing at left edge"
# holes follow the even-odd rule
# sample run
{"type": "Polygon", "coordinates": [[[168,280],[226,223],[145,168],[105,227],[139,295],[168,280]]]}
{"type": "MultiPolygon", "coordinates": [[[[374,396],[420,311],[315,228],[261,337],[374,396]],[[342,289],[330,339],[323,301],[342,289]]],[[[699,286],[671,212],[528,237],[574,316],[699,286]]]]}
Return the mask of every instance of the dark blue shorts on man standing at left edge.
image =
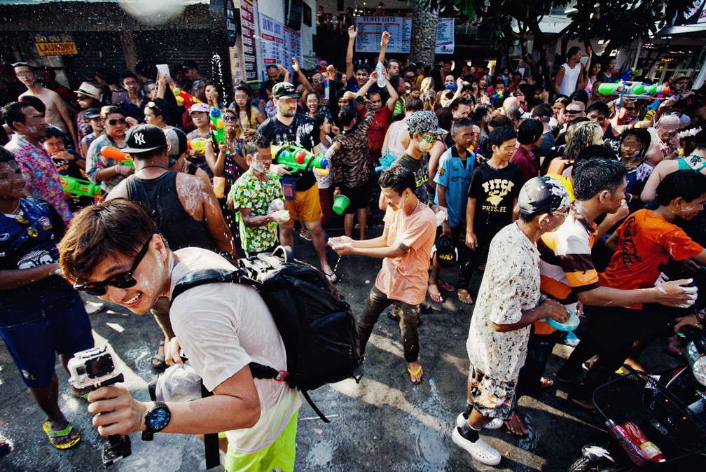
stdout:
{"type": "MultiPolygon", "coordinates": [[[[83,301],[71,296],[38,296],[42,308],[2,317],[0,337],[28,387],[46,387],[54,377],[56,353],[73,356],[93,347],[83,301]]],[[[7,315],[7,313],[6,313],[7,315]]]]}

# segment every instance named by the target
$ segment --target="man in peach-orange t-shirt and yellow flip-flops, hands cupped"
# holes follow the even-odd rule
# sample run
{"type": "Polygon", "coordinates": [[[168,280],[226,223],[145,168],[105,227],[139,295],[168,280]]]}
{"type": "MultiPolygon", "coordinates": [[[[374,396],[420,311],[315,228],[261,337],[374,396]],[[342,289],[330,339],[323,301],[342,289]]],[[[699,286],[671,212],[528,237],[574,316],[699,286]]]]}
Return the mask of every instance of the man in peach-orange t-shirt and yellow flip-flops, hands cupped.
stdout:
{"type": "Polygon", "coordinates": [[[436,236],[436,217],[414,194],[414,173],[402,166],[383,172],[380,177],[385,210],[383,235],[364,241],[347,236],[330,238],[336,253],[383,258],[383,267],[370,291],[363,313],[358,318],[361,357],[365,353],[373,327],[385,308],[394,304],[400,309],[400,332],[405,348],[409,382],[417,385],[424,373],[419,363],[419,305],[426,296],[429,282],[429,257],[436,236]]]}

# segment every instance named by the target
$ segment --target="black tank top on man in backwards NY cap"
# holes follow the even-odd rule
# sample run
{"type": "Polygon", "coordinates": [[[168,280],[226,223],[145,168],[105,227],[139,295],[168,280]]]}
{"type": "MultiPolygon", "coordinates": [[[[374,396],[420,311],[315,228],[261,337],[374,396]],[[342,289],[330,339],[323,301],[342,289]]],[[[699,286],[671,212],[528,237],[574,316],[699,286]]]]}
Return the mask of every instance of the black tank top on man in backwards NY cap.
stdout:
{"type": "Polygon", "coordinates": [[[205,222],[194,219],[179,200],[178,174],[177,171],[167,171],[150,179],[130,176],[126,181],[128,198],[140,202],[150,211],[170,249],[212,249],[205,222]]]}

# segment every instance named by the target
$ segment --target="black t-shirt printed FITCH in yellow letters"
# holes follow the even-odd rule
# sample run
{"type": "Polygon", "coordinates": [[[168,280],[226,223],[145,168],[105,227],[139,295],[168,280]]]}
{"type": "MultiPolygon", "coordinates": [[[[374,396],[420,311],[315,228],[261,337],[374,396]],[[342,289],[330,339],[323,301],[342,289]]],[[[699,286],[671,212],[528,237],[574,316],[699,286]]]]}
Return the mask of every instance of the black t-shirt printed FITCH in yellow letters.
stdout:
{"type": "Polygon", "coordinates": [[[520,193],[522,181],[522,170],[512,162],[503,169],[487,162],[473,169],[468,196],[476,199],[475,234],[495,235],[513,221],[513,200],[520,193]]]}

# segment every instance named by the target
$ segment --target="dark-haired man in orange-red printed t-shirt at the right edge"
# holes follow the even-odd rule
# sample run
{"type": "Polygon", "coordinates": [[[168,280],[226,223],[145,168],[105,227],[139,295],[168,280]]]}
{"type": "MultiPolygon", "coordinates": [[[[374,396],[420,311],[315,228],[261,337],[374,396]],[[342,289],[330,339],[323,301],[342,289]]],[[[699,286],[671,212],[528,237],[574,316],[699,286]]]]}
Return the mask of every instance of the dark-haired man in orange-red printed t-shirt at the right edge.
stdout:
{"type": "MultiPolygon", "coordinates": [[[[591,310],[587,333],[557,373],[560,380],[575,380],[582,363],[598,354],[598,360],[592,365],[582,385],[569,396],[569,401],[584,409],[592,409],[594,389],[607,382],[611,373],[623,365],[623,361],[630,355],[633,341],[650,329],[654,322],[664,320],[664,315],[655,317],[649,310],[642,310],[642,303],[664,303],[662,298],[674,288],[654,286],[660,274],[659,266],[670,258],[691,259],[697,264],[706,264],[706,250],[674,224],[677,217],[689,220],[704,209],[706,176],[692,170],[673,172],[659,183],[657,200],[657,210],[643,209],[631,214],[606,241],[606,246],[617,250],[606,270],[598,277],[601,289],[609,287],[629,290],[637,297],[623,300],[623,306],[614,308],[611,306],[612,299],[595,299],[592,305],[603,307],[591,310]],[[645,298],[640,296],[640,292],[645,298]]],[[[687,279],[674,284],[690,282],[687,279]]],[[[688,308],[696,300],[696,289],[684,288],[683,292],[688,298],[682,303],[664,304],[688,308]]]]}

